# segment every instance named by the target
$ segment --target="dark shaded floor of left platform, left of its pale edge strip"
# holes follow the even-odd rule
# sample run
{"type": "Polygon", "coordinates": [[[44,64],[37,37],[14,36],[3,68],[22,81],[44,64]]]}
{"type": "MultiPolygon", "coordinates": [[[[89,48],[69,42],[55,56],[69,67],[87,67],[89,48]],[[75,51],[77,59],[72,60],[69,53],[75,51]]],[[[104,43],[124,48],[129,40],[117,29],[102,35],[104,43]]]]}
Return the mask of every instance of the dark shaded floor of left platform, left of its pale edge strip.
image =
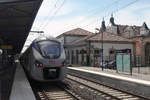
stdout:
{"type": "Polygon", "coordinates": [[[16,66],[0,64],[0,100],[9,100],[16,66]]]}

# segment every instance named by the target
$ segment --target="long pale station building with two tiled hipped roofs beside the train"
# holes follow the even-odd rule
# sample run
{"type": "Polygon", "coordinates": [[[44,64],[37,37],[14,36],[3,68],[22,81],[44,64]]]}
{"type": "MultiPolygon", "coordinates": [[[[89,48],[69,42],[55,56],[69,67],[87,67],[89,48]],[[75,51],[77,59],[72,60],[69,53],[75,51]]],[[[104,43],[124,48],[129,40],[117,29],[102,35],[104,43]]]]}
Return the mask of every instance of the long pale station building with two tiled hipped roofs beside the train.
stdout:
{"type": "MultiPolygon", "coordinates": [[[[107,32],[104,21],[100,31],[104,34],[103,51],[105,61],[115,60],[115,50],[131,49],[132,55],[135,55],[135,42],[133,40],[107,32]]],[[[66,47],[68,62],[70,64],[100,66],[102,51],[101,32],[94,34],[78,28],[59,35],[57,38],[63,41],[66,47]]]]}

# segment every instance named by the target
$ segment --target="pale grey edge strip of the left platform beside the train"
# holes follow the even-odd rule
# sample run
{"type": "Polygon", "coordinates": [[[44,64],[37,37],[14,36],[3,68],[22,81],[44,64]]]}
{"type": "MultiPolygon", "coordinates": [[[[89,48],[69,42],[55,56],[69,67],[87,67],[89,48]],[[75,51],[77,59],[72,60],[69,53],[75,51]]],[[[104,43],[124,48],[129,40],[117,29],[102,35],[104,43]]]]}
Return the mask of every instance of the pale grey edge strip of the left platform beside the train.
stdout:
{"type": "Polygon", "coordinates": [[[22,66],[17,63],[10,100],[36,100],[22,66]]]}

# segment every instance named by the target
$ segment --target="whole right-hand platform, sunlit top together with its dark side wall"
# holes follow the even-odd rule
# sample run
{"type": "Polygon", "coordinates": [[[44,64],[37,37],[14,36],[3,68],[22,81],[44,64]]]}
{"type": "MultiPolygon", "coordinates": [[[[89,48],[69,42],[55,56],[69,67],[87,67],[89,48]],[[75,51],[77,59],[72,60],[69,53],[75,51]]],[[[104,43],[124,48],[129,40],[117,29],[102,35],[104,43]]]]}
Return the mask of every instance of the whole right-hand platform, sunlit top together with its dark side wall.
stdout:
{"type": "Polygon", "coordinates": [[[128,73],[116,73],[115,70],[102,71],[96,67],[68,67],[68,73],[150,99],[150,75],[133,73],[131,76],[128,73]]]}

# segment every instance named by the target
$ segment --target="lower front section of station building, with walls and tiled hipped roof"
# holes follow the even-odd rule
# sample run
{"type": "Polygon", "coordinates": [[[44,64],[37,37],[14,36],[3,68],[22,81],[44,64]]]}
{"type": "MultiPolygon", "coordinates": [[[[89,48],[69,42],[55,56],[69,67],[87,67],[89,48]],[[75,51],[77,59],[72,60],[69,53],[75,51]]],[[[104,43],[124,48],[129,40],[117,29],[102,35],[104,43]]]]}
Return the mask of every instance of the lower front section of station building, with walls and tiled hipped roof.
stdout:
{"type": "MultiPolygon", "coordinates": [[[[103,37],[103,51],[104,61],[115,60],[116,50],[120,49],[131,49],[132,55],[135,55],[134,45],[135,42],[120,36],[113,35],[108,32],[104,32],[103,37]]],[[[89,65],[89,66],[100,66],[102,59],[101,45],[102,45],[102,34],[94,34],[87,36],[83,39],[74,41],[71,43],[72,46],[72,64],[89,65]]],[[[67,51],[67,50],[66,50],[67,51]]],[[[132,59],[134,60],[134,59],[132,59]]]]}

